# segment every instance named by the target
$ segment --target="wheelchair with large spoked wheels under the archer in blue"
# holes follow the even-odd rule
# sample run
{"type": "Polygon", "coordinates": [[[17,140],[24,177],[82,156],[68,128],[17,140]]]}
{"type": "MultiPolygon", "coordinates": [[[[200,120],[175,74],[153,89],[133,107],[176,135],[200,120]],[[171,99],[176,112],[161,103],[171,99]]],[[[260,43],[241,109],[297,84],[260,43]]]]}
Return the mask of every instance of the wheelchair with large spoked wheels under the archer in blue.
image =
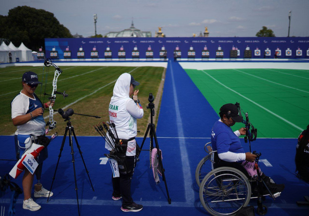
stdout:
{"type": "MultiPolygon", "coordinates": [[[[274,200],[281,192],[271,193],[265,182],[258,175],[248,178],[243,172],[232,167],[214,168],[214,154],[210,142],[205,144],[205,151],[208,153],[196,168],[196,182],[200,187],[199,196],[202,206],[211,215],[236,215],[237,212],[248,205],[250,199],[257,198],[257,214],[265,215],[267,207],[262,204],[266,196],[274,200]],[[256,190],[252,191],[252,186],[256,190]],[[263,186],[268,193],[265,193],[263,186]]],[[[254,152],[253,152],[254,153],[254,152]]],[[[256,154],[255,167],[261,154],[256,154]],[[259,155],[259,156],[258,156],[259,155]]],[[[247,171],[246,171],[247,172],[247,171]]]]}

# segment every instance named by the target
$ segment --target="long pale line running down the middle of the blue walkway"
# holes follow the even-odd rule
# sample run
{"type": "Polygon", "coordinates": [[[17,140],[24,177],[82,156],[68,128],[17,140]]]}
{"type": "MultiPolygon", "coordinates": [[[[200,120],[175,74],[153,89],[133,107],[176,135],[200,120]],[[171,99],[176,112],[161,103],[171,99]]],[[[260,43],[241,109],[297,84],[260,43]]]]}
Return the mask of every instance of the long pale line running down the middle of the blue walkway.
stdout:
{"type": "MultiPolygon", "coordinates": [[[[172,78],[173,96],[174,96],[174,103],[175,103],[174,107],[175,107],[175,111],[176,111],[177,131],[178,131],[178,136],[183,137],[184,136],[184,129],[182,127],[182,120],[181,120],[180,110],[179,110],[179,106],[178,106],[174,72],[173,72],[171,60],[169,60],[169,65],[170,65],[170,68],[171,68],[171,78],[172,78]]],[[[192,182],[191,168],[190,168],[190,164],[189,164],[187,146],[186,146],[184,139],[179,140],[179,148],[180,148],[180,157],[181,157],[181,164],[182,164],[182,173],[183,173],[183,177],[184,177],[185,199],[186,199],[186,202],[188,202],[190,200],[194,200],[194,191],[191,189],[193,182],[192,182]]]]}

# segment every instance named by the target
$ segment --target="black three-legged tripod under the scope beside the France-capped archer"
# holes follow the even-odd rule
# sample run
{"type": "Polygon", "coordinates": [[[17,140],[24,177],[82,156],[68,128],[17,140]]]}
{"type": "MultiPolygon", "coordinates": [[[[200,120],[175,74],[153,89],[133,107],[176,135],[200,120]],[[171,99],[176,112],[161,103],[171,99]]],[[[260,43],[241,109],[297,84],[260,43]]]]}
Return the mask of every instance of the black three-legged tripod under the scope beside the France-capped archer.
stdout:
{"type": "MultiPolygon", "coordinates": [[[[86,172],[87,172],[87,175],[88,175],[88,178],[89,178],[89,181],[90,181],[90,184],[91,184],[91,187],[92,187],[92,190],[95,191],[93,189],[93,186],[92,186],[92,183],[91,183],[91,179],[90,179],[90,176],[89,176],[89,171],[87,170],[87,167],[86,167],[86,164],[85,164],[85,161],[84,161],[84,158],[83,158],[83,152],[80,150],[80,145],[78,144],[78,141],[77,141],[77,138],[76,138],[76,135],[75,135],[75,132],[74,132],[74,127],[72,126],[71,124],[71,121],[70,121],[71,118],[66,118],[64,121],[68,121],[66,123],[66,131],[63,135],[63,139],[62,139],[62,143],[61,143],[61,147],[60,147],[60,153],[59,153],[59,156],[58,156],[58,161],[57,161],[57,165],[56,165],[56,169],[55,169],[55,173],[54,173],[54,176],[53,176],[53,181],[52,181],[52,185],[50,186],[50,189],[49,189],[49,195],[50,195],[50,191],[52,190],[53,188],[53,183],[54,183],[54,180],[55,180],[55,176],[56,176],[56,172],[57,172],[57,168],[58,168],[58,164],[59,164],[59,160],[60,160],[60,157],[61,157],[61,152],[63,150],[63,146],[64,146],[64,143],[66,141],[66,135],[67,135],[67,132],[69,131],[69,144],[70,144],[70,147],[71,147],[71,155],[72,155],[72,163],[73,163],[73,170],[74,170],[74,181],[75,181],[75,190],[76,190],[76,199],[77,199],[77,207],[78,207],[78,215],[80,215],[80,212],[79,212],[79,203],[78,203],[78,192],[77,192],[77,182],[76,182],[76,172],[75,172],[75,160],[74,160],[74,150],[73,150],[73,140],[72,140],[72,134],[74,136],[74,139],[75,139],[75,142],[76,142],[76,145],[77,145],[77,148],[78,148],[78,151],[79,151],[79,154],[83,160],[83,164],[85,166],[85,169],[86,169],[86,172]]],[[[47,202],[49,200],[49,195],[48,195],[48,198],[47,198],[47,202]]]]}

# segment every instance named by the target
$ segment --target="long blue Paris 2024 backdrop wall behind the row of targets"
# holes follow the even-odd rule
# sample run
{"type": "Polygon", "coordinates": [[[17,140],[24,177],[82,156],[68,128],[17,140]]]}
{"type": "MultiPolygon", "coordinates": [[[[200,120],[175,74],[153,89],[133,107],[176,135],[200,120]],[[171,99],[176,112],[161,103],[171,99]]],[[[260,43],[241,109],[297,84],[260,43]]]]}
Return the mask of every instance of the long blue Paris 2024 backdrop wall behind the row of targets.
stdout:
{"type": "Polygon", "coordinates": [[[275,53],[281,58],[308,58],[309,37],[45,38],[46,57],[50,57],[53,48],[60,59],[66,48],[72,51],[72,58],[77,58],[82,49],[88,59],[93,50],[101,59],[118,59],[118,52],[122,58],[132,59],[134,48],[138,49],[139,58],[146,58],[149,50],[153,51],[153,58],[160,58],[162,50],[167,51],[168,58],[173,57],[174,51],[181,58],[192,58],[193,53],[195,58],[201,58],[204,50],[209,51],[210,58],[215,58],[218,50],[229,58],[233,49],[238,50],[238,58],[243,58],[246,49],[252,50],[252,58],[273,58],[275,53]]]}

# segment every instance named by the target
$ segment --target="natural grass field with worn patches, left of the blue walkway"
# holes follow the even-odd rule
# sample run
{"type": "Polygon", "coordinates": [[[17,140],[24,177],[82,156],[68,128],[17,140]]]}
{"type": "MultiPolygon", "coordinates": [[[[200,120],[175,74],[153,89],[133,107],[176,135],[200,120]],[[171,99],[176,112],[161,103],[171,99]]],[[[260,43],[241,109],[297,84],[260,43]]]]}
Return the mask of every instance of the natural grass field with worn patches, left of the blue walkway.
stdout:
{"type": "MultiPolygon", "coordinates": [[[[150,111],[146,109],[148,95],[152,92],[155,96],[158,92],[158,87],[161,82],[161,77],[164,71],[162,67],[60,67],[63,72],[58,77],[57,91],[69,94],[69,97],[63,99],[62,95],[57,95],[54,109],[63,108],[69,105],[68,108],[74,109],[74,112],[89,115],[101,116],[101,119],[85,117],[79,115],[72,116],[72,125],[75,128],[76,135],[98,135],[92,127],[99,121],[107,121],[108,105],[112,97],[112,91],[116,79],[122,73],[132,74],[135,80],[141,85],[139,89],[139,99],[144,109],[144,117],[138,119],[138,130],[140,134],[145,134],[148,125],[148,117],[150,111]]],[[[11,101],[21,91],[21,78],[24,72],[33,71],[38,74],[39,80],[42,79],[43,67],[7,67],[0,68],[0,134],[11,135],[16,131],[11,120],[11,101]]],[[[46,71],[46,67],[44,69],[46,71]]],[[[49,68],[47,77],[46,93],[52,92],[52,81],[54,77],[54,68],[49,68]]],[[[41,101],[43,102],[44,93],[43,81],[41,91],[41,101]]],[[[35,92],[40,97],[40,85],[35,92]]],[[[48,96],[45,96],[44,102],[47,102],[48,96]]],[[[156,108],[159,108],[156,106],[156,108]]],[[[49,112],[45,110],[44,117],[48,116],[49,112]]],[[[48,121],[49,119],[45,119],[48,121]]],[[[53,131],[57,131],[60,135],[64,133],[66,123],[59,114],[54,115],[54,120],[57,121],[57,127],[53,131]]],[[[54,132],[53,132],[54,133],[54,132]]]]}

